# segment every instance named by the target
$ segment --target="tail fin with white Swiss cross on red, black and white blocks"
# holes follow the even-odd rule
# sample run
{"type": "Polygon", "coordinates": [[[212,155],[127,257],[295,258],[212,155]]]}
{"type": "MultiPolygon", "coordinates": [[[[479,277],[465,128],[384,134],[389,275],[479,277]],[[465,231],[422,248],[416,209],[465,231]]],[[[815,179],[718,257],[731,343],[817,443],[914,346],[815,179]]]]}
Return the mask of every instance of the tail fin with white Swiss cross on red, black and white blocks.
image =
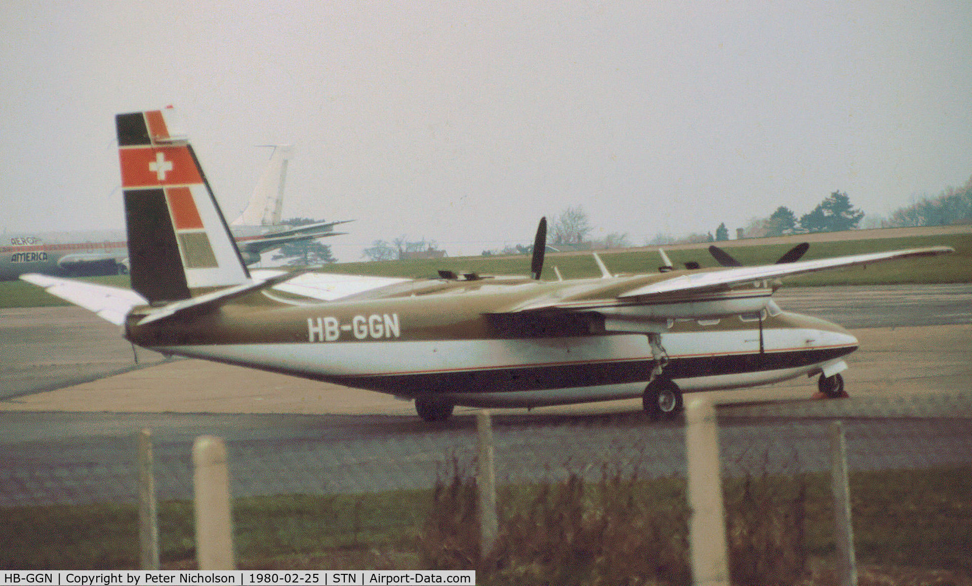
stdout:
{"type": "Polygon", "coordinates": [[[153,304],[250,279],[171,109],[115,117],[132,289],[153,304]]]}

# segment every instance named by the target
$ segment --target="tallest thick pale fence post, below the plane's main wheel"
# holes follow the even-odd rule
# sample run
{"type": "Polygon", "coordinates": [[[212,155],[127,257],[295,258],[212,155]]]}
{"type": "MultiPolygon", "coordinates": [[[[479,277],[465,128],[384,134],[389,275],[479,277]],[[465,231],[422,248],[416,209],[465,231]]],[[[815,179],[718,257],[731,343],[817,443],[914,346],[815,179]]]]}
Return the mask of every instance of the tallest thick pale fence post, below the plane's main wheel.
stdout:
{"type": "Polygon", "coordinates": [[[694,399],[686,407],[685,416],[692,583],[729,586],[715,408],[707,398],[694,399]]]}

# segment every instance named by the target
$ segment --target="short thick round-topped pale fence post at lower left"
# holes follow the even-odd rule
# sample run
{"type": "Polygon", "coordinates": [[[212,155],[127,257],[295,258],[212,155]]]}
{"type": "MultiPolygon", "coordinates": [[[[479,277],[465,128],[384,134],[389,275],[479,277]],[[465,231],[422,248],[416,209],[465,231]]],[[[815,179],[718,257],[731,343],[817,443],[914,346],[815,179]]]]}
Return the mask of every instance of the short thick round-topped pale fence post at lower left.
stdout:
{"type": "Polygon", "coordinates": [[[200,435],[192,444],[195,552],[199,569],[234,569],[229,472],[221,437],[200,435]]]}

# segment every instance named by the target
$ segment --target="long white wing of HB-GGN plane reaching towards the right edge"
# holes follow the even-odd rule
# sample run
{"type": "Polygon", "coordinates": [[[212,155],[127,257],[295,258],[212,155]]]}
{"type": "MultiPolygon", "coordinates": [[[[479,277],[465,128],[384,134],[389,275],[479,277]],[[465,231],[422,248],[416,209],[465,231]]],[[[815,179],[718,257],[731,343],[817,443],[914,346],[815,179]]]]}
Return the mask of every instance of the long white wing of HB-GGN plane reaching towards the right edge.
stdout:
{"type": "MultiPolygon", "coordinates": [[[[767,264],[760,266],[741,266],[704,271],[678,271],[669,278],[654,279],[644,283],[643,279],[631,279],[631,288],[603,285],[592,282],[589,285],[579,285],[572,290],[559,293],[556,297],[545,296],[528,300],[516,307],[507,309],[503,313],[520,313],[550,309],[561,310],[597,310],[598,308],[621,304],[651,304],[652,302],[671,302],[677,298],[678,303],[708,302],[718,297],[720,293],[727,293],[737,286],[767,279],[776,279],[789,275],[816,272],[835,268],[844,268],[873,262],[893,259],[908,259],[915,257],[931,257],[955,252],[948,246],[889,251],[884,253],[870,253],[835,257],[832,259],[801,260],[783,264],[767,264]],[[609,292],[607,295],[600,292],[609,292]]],[[[765,291],[765,290],[764,290],[765,291]]]]}

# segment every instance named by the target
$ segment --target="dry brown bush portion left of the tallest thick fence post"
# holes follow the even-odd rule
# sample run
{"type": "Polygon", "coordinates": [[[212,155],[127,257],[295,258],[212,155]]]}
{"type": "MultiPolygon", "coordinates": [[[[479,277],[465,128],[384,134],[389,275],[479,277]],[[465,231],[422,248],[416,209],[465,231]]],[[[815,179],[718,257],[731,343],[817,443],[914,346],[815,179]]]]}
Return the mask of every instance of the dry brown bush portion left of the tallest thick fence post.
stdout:
{"type": "Polygon", "coordinates": [[[688,583],[684,499],[655,504],[646,486],[605,471],[595,483],[572,473],[510,493],[496,545],[481,557],[475,481],[454,472],[436,482],[419,554],[426,568],[476,569],[503,584],[688,583]]]}

